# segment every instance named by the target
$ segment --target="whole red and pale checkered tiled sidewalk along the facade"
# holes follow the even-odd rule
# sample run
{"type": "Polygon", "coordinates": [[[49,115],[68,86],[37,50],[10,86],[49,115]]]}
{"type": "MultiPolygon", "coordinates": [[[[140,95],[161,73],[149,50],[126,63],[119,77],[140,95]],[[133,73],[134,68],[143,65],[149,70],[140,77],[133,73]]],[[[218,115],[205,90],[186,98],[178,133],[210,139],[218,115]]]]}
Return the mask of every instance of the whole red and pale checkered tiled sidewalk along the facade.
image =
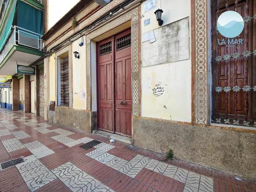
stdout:
{"type": "Polygon", "coordinates": [[[45,122],[32,114],[0,109],[0,189],[15,191],[256,192],[235,175],[172,160],[107,138],[45,122]],[[101,143],[84,149],[81,145],[101,143]]]}

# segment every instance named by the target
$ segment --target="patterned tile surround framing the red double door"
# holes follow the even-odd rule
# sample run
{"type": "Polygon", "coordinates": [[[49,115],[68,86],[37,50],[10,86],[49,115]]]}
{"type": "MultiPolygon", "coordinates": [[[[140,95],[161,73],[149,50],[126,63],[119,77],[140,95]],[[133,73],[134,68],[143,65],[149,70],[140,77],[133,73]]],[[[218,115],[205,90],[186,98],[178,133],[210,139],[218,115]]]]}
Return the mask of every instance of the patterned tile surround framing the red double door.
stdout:
{"type": "MultiPolygon", "coordinates": [[[[94,31],[86,34],[86,106],[87,111],[92,113],[91,125],[95,125],[96,107],[95,107],[95,92],[91,85],[95,84],[96,73],[93,71],[96,60],[95,38],[105,34],[112,29],[126,23],[131,23],[131,60],[132,60],[132,122],[133,118],[140,116],[140,63],[141,63],[141,49],[140,49],[140,7],[127,9],[119,15],[113,17],[108,23],[104,23],[97,27],[94,31]],[[93,70],[92,70],[93,69],[93,70]],[[92,75],[91,75],[92,74],[92,75]],[[92,102],[93,101],[93,102],[92,102]]],[[[92,127],[92,130],[95,127],[92,127]]],[[[133,137],[133,126],[131,128],[131,135],[133,137]]]]}

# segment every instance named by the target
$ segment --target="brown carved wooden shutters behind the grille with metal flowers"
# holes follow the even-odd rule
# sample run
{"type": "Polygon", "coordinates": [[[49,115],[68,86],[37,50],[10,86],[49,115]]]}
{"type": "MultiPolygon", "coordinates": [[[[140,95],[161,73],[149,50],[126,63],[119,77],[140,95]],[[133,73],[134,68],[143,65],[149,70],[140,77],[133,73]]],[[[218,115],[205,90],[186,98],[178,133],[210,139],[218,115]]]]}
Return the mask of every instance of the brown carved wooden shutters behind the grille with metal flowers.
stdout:
{"type": "Polygon", "coordinates": [[[212,121],[256,126],[256,0],[212,0],[212,121]],[[218,17],[238,12],[244,29],[225,38],[218,17]]]}

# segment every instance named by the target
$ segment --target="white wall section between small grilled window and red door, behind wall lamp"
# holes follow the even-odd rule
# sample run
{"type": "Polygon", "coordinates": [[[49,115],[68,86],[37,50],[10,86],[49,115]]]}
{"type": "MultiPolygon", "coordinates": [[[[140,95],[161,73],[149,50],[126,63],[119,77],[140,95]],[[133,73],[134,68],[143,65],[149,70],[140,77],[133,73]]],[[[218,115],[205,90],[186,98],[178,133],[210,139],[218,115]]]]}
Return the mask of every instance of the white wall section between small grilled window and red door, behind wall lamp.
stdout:
{"type": "Polygon", "coordinates": [[[72,43],[73,108],[86,109],[86,46],[80,47],[79,42],[80,38],[72,43]],[[79,59],[73,55],[74,51],[79,52],[79,59]]]}

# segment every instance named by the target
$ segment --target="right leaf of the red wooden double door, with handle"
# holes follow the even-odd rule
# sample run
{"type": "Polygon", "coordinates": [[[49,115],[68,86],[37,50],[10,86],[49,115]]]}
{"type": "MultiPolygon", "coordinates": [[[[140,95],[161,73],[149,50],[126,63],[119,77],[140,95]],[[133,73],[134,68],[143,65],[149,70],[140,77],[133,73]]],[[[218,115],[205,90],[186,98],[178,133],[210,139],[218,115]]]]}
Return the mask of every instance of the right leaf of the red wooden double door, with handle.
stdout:
{"type": "Polygon", "coordinates": [[[131,136],[131,30],[115,41],[115,123],[117,134],[131,136]]]}

